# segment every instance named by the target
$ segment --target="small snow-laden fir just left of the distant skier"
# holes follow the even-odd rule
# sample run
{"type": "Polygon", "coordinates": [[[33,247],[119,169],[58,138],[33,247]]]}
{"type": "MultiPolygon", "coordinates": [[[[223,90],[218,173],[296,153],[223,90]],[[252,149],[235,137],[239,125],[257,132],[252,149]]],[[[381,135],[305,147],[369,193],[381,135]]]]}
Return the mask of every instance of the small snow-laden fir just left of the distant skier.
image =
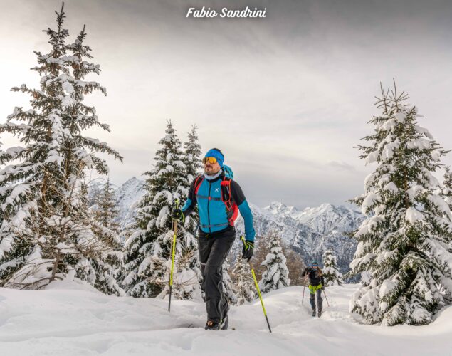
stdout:
{"type": "Polygon", "coordinates": [[[269,253],[261,263],[266,268],[262,273],[261,281],[259,281],[259,288],[262,293],[290,286],[289,270],[285,264],[280,236],[276,231],[270,231],[269,235],[269,253]]]}

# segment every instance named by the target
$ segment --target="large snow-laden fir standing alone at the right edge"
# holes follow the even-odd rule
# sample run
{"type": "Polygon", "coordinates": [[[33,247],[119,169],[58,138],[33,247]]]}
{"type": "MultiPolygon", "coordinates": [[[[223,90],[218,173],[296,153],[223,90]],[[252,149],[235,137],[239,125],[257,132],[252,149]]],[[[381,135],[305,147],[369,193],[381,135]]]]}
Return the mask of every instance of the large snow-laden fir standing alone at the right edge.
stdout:
{"type": "Polygon", "coordinates": [[[369,145],[359,146],[362,159],[377,163],[365,193],[352,200],[368,216],[354,234],[359,243],[350,264],[362,274],[350,309],[365,323],[431,323],[452,290],[452,216],[432,174],[446,151],[417,125],[407,99],[395,84],[391,93],[382,89],[382,115],[370,121],[369,145]]]}

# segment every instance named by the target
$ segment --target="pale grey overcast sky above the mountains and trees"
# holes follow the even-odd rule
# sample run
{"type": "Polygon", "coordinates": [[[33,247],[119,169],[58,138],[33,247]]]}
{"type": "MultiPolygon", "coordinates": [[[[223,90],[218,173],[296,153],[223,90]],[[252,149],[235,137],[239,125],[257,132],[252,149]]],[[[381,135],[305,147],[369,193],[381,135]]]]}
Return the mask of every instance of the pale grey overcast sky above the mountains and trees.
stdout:
{"type": "MultiPolygon", "coordinates": [[[[56,0],[0,0],[0,120],[38,86],[33,50],[48,51],[56,0]]],[[[122,184],[152,164],[167,120],[184,139],[199,127],[248,198],[300,208],[343,204],[364,189],[353,147],[372,132],[379,82],[409,93],[438,142],[452,148],[450,1],[65,1],[70,38],[87,43],[108,95],[92,95],[112,132],[90,132],[125,158],[122,184]],[[266,7],[265,19],[186,19],[189,6],[266,7]]],[[[2,137],[4,146],[14,140],[2,137]]],[[[444,163],[452,164],[448,155],[444,163]]]]}

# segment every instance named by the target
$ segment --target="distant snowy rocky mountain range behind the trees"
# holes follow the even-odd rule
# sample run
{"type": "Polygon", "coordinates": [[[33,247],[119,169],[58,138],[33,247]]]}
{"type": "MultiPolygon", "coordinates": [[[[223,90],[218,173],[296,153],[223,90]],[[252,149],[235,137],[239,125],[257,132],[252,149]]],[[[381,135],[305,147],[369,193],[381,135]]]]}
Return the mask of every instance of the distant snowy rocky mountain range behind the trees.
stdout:
{"type": "MultiPolygon", "coordinates": [[[[141,179],[132,177],[116,189],[117,206],[120,209],[118,222],[122,227],[133,221],[134,206],[144,195],[143,184],[141,179]]],[[[100,184],[95,184],[90,196],[93,197],[99,188],[100,184]]],[[[271,229],[280,231],[285,243],[300,253],[306,263],[313,259],[322,261],[322,253],[331,248],[335,251],[340,270],[349,270],[357,242],[345,233],[357,229],[364,220],[359,210],[332,204],[298,210],[295,206],[276,201],[265,208],[253,204],[250,206],[257,236],[271,229]]],[[[239,233],[243,233],[241,217],[236,226],[239,233]]],[[[236,242],[238,244],[238,239],[236,242]]]]}

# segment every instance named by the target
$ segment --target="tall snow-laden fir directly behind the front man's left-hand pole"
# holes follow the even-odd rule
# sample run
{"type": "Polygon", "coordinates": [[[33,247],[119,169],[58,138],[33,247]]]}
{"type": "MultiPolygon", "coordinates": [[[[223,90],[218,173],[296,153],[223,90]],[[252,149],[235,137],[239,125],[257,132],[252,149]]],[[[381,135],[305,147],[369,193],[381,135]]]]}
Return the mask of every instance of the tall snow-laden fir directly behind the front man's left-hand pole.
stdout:
{"type": "MultiPolygon", "coordinates": [[[[138,204],[135,231],[125,242],[125,279],[128,295],[163,298],[168,293],[171,268],[173,221],[171,210],[188,193],[182,143],[171,122],[154,157],[154,167],[144,173],[147,193],[138,204]]],[[[176,298],[194,298],[199,293],[199,261],[196,240],[178,226],[173,293],[176,298]]]]}

